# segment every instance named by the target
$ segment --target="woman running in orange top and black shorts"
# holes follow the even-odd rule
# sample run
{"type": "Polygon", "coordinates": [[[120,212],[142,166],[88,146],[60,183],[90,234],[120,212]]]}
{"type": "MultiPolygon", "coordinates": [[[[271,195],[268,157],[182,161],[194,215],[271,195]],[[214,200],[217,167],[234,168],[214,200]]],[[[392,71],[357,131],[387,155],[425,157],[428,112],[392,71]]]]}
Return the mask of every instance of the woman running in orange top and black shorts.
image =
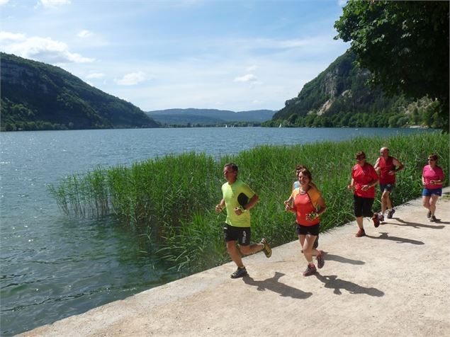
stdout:
{"type": "Polygon", "coordinates": [[[320,217],[327,209],[317,188],[310,185],[313,180],[308,169],[303,168],[298,173],[299,188],[292,191],[293,205],[286,204],[286,211],[295,212],[297,220],[297,234],[303,255],[308,261],[308,267],[303,276],[313,275],[316,268],[313,256],[317,257],[317,267],[322,268],[325,264],[323,251],[313,248],[314,241],[320,231],[320,217]]]}

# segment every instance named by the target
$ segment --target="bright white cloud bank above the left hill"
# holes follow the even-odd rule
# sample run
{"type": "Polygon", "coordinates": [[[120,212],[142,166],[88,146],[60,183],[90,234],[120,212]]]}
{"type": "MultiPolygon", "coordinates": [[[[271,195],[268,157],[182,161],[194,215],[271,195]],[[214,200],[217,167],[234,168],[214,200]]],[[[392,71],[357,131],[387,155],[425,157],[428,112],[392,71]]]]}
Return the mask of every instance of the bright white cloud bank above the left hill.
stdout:
{"type": "Polygon", "coordinates": [[[69,52],[69,47],[64,42],[51,38],[27,38],[23,34],[0,32],[0,47],[4,52],[51,64],[94,62],[94,59],[69,52]]]}

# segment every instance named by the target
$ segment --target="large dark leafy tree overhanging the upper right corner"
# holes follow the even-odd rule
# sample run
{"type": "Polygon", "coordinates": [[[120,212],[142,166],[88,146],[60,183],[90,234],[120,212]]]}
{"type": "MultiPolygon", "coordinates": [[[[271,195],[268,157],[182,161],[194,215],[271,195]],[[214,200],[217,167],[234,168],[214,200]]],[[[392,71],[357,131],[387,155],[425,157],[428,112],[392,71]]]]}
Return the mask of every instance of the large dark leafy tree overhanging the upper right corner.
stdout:
{"type": "Polygon", "coordinates": [[[436,98],[434,126],[449,131],[449,1],[349,0],[334,27],[371,71],[371,84],[436,98]]]}

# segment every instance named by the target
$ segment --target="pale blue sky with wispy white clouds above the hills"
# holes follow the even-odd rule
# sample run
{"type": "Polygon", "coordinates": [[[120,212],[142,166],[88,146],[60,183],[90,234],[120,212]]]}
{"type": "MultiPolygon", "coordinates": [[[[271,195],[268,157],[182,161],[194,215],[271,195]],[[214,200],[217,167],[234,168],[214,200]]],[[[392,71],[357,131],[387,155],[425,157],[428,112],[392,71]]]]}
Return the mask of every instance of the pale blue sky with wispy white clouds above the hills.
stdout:
{"type": "Polygon", "coordinates": [[[279,110],[349,44],[344,0],[0,0],[0,50],[144,111],[279,110]]]}

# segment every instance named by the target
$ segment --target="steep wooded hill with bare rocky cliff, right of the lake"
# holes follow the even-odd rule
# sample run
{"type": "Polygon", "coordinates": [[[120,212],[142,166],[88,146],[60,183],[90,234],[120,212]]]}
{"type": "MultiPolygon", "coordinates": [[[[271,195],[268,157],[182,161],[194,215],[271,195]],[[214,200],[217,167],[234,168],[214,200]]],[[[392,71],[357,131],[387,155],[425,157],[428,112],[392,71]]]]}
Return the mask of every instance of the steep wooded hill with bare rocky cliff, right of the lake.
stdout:
{"type": "Polygon", "coordinates": [[[324,72],[303,86],[298,96],[285,103],[269,126],[317,127],[433,127],[436,102],[386,96],[369,88],[369,71],[354,65],[355,56],[346,52],[324,72]]]}

